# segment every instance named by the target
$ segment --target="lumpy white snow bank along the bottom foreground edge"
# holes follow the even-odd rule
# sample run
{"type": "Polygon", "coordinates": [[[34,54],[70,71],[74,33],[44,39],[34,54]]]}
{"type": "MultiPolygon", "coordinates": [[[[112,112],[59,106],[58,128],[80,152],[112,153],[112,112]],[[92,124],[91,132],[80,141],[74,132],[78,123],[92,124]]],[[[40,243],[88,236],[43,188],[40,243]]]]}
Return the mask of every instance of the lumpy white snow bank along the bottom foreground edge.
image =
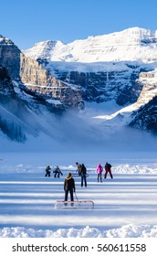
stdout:
{"type": "Polygon", "coordinates": [[[157,238],[157,226],[125,225],[119,229],[26,229],[23,227],[0,229],[1,238],[157,238]]]}

